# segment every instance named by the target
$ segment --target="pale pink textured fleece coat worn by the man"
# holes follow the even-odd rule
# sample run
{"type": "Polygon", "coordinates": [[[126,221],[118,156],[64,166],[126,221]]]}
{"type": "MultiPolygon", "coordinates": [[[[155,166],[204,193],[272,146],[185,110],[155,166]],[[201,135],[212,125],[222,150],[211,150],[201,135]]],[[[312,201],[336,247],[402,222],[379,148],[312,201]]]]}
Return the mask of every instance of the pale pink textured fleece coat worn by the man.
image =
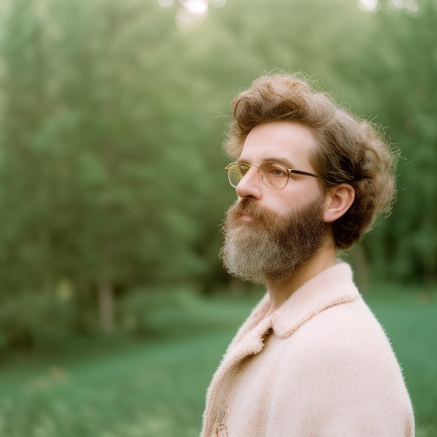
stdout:
{"type": "Polygon", "coordinates": [[[239,329],[207,393],[202,437],[414,436],[399,364],[341,263],[239,329]]]}

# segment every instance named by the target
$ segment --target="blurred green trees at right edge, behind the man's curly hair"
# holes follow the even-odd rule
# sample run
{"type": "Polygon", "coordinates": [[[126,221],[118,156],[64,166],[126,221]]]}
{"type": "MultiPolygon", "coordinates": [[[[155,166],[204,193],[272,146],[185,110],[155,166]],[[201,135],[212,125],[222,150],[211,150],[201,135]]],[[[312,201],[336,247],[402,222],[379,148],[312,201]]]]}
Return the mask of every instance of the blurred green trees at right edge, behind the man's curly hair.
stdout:
{"type": "Polygon", "coordinates": [[[392,216],[377,223],[365,246],[376,270],[429,284],[437,279],[437,4],[420,3],[413,14],[388,5],[373,15],[371,41],[378,43],[359,47],[344,77],[348,88],[360,84],[366,98],[357,105],[372,117],[378,111],[375,121],[401,151],[392,216]]]}

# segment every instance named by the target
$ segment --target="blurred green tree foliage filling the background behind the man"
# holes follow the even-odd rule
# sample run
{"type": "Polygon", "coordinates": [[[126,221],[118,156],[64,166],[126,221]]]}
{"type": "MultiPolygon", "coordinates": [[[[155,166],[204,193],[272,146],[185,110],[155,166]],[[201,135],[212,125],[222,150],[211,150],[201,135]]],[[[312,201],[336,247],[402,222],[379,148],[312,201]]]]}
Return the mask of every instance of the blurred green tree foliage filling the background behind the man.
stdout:
{"type": "Polygon", "coordinates": [[[273,68],[304,71],[388,126],[405,157],[399,200],[366,255],[380,277],[436,281],[436,2],[411,16],[340,0],[229,1],[186,30],[177,7],[3,4],[1,299],[70,296],[83,329],[98,295],[112,313],[135,288],[225,281],[226,116],[273,68]]]}

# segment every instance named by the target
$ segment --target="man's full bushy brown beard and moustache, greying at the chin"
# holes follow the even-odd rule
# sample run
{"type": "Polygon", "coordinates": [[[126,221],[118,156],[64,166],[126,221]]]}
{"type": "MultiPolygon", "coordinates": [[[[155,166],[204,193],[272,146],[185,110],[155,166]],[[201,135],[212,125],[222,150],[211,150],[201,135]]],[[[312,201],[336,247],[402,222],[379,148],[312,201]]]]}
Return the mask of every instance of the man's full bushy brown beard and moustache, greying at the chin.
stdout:
{"type": "Polygon", "coordinates": [[[323,198],[297,212],[276,214],[249,198],[226,213],[220,251],[229,274],[254,283],[280,283],[304,267],[325,243],[323,198]],[[241,214],[254,220],[244,221],[241,214]]]}

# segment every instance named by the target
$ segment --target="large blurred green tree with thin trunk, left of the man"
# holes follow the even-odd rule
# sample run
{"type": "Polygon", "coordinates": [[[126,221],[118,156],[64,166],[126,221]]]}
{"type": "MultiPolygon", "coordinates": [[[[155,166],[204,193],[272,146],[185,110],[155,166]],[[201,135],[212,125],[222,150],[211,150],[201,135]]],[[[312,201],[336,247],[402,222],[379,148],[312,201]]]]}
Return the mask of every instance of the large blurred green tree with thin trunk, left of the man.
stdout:
{"type": "Polygon", "coordinates": [[[45,6],[21,0],[5,20],[1,276],[22,290],[64,279],[94,288],[110,330],[117,286],[188,281],[205,268],[195,202],[175,195],[202,190],[178,132],[187,93],[172,94],[179,83],[160,77],[163,58],[149,59],[150,6],[45,6]]]}

